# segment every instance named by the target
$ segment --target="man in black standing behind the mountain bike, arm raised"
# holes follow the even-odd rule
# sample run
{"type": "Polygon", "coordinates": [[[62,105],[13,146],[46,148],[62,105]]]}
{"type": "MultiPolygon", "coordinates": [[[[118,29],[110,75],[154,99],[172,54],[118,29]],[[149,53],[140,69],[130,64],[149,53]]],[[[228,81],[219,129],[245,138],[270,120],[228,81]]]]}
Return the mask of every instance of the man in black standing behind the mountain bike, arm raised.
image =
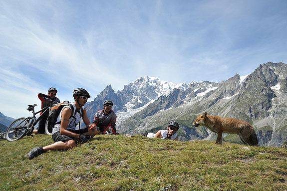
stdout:
{"type": "MultiPolygon", "coordinates": [[[[48,95],[45,95],[45,94],[42,94],[42,93],[38,94],[38,98],[41,100],[41,109],[43,109],[46,106],[51,107],[52,105],[54,105],[56,103],[60,103],[59,98],[56,97],[57,92],[58,91],[57,91],[56,88],[51,87],[48,90],[48,95]]],[[[42,113],[40,113],[40,115],[41,114],[42,113]]],[[[39,121],[38,128],[33,131],[34,134],[43,134],[43,133],[45,133],[45,124],[46,124],[49,112],[47,112],[44,115],[45,116],[42,116],[42,119],[40,119],[40,121],[39,121]]]]}

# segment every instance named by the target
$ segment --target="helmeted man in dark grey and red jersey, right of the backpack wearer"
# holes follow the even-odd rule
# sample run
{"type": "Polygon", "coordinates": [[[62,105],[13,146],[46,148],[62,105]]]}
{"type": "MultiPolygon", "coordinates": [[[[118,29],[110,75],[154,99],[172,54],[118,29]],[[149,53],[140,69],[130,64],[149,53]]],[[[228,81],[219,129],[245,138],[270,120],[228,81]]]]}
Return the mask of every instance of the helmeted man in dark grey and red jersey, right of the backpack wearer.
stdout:
{"type": "Polygon", "coordinates": [[[112,106],[113,102],[111,100],[106,100],[104,101],[104,109],[97,111],[95,114],[91,127],[97,127],[97,130],[100,131],[101,134],[105,134],[109,130],[109,127],[111,127],[112,133],[118,135],[116,130],[117,116],[112,110],[112,106]]]}

